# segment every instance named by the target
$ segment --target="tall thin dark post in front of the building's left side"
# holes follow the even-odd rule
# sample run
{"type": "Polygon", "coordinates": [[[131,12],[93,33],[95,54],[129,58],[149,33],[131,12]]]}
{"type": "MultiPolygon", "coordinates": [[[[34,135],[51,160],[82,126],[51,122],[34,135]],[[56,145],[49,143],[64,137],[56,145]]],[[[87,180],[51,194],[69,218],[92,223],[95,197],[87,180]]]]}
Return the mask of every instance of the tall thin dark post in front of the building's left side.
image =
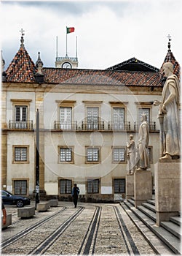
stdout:
{"type": "Polygon", "coordinates": [[[36,204],[37,203],[39,203],[39,109],[36,111],[36,204]]]}

